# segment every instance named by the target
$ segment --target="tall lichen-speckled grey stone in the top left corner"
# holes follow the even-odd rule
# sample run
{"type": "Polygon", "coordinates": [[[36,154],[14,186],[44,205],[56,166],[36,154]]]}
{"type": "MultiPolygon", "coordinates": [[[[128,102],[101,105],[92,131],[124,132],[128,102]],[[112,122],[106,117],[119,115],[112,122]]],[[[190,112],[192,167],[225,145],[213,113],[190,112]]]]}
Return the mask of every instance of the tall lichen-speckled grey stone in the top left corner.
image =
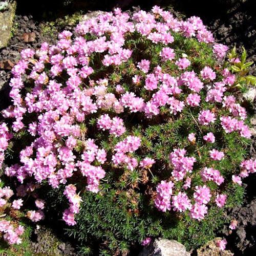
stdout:
{"type": "Polygon", "coordinates": [[[16,2],[8,3],[6,10],[0,11],[0,49],[7,46],[11,36],[12,22],[15,16],[16,2]]]}

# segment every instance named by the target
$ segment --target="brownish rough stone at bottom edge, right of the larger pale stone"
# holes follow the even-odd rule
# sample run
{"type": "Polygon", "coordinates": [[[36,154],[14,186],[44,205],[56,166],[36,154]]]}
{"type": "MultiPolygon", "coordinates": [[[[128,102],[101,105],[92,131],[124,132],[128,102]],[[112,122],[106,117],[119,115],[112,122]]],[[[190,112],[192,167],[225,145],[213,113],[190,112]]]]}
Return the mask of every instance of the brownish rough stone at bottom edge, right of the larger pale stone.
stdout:
{"type": "Polygon", "coordinates": [[[220,250],[220,248],[216,245],[218,240],[222,238],[215,238],[212,241],[209,241],[206,245],[197,249],[198,256],[232,256],[233,253],[229,250],[220,250]]]}

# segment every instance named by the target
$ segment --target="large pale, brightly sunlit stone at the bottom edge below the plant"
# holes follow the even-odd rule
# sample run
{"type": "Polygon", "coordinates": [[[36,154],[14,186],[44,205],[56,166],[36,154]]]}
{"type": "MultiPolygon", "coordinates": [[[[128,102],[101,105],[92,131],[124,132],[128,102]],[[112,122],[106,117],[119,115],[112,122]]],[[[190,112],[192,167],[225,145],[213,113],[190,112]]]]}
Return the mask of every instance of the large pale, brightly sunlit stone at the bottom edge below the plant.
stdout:
{"type": "Polygon", "coordinates": [[[186,247],[168,239],[156,239],[150,245],[145,246],[139,256],[189,256],[186,247]]]}

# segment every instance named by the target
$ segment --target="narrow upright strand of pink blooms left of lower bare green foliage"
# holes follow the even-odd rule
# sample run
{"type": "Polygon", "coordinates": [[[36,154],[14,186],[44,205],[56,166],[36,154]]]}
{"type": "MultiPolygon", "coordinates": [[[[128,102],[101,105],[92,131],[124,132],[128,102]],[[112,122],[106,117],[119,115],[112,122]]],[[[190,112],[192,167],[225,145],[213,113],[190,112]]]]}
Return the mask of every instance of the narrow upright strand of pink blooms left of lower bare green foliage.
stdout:
{"type": "Polygon", "coordinates": [[[81,197],[76,194],[76,187],[70,184],[65,187],[63,193],[69,200],[70,207],[63,212],[63,221],[65,221],[69,226],[74,226],[76,224],[75,214],[78,214],[81,197]]]}

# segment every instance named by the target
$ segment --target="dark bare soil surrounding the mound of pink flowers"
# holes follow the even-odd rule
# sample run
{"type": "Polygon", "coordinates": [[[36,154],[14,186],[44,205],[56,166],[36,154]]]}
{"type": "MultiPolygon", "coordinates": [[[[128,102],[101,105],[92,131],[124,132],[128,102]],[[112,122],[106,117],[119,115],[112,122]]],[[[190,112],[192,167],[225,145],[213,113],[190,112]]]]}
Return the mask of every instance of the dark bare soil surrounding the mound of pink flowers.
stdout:
{"type": "MultiPolygon", "coordinates": [[[[132,5],[140,5],[142,9],[150,9],[155,4],[160,6],[168,6],[172,4],[177,10],[176,14],[184,14],[185,16],[197,15],[203,19],[209,29],[214,32],[215,37],[219,42],[232,47],[234,45],[244,45],[248,57],[251,60],[256,60],[256,18],[254,15],[253,0],[250,1],[221,1],[216,0],[209,3],[204,0],[153,0],[153,1],[77,1],[70,0],[73,5],[63,6],[63,1],[39,1],[39,3],[29,0],[18,2],[17,15],[14,20],[16,26],[13,37],[9,41],[8,47],[0,50],[0,61],[10,60],[15,64],[19,59],[19,52],[26,48],[37,48],[41,42],[49,41],[49,38],[42,36],[39,30],[41,20],[52,19],[56,16],[71,13],[78,8],[83,10],[98,9],[111,10],[111,8],[118,4],[124,10],[132,10],[132,5]],[[50,4],[50,2],[52,4],[50,4]],[[79,5],[80,3],[80,5],[79,5]],[[89,5],[91,3],[91,5],[89,5]],[[111,4],[110,4],[111,3],[111,4]],[[149,4],[150,3],[150,4],[149,4]],[[149,6],[150,5],[150,6],[149,6]],[[54,8],[57,8],[54,11],[54,8]],[[38,10],[41,10],[38,12],[38,10]],[[35,18],[30,15],[32,13],[35,18]],[[53,13],[55,13],[53,15],[53,13]],[[35,39],[31,42],[25,42],[22,38],[24,33],[35,33],[35,39]]],[[[69,1],[66,1],[67,3],[69,1]]],[[[68,28],[59,28],[59,31],[68,28]]],[[[53,41],[51,41],[53,42],[53,41]]],[[[252,70],[255,73],[255,66],[252,70]]],[[[8,97],[9,87],[8,81],[11,77],[10,67],[0,69],[0,111],[5,109],[11,102],[8,97]]],[[[251,145],[251,157],[255,156],[256,142],[251,145]]],[[[228,212],[231,218],[238,221],[238,228],[234,230],[231,235],[227,236],[228,245],[231,247],[235,255],[253,255],[256,251],[256,190],[255,175],[251,175],[245,180],[247,186],[246,200],[242,207],[236,207],[228,212]]],[[[228,229],[223,232],[228,235],[228,229]]],[[[64,244],[65,245],[65,244],[64,244]]],[[[62,246],[64,246],[62,245],[62,246]]],[[[34,245],[37,246],[37,245],[34,245]]],[[[71,248],[72,250],[72,248],[71,248]]]]}

